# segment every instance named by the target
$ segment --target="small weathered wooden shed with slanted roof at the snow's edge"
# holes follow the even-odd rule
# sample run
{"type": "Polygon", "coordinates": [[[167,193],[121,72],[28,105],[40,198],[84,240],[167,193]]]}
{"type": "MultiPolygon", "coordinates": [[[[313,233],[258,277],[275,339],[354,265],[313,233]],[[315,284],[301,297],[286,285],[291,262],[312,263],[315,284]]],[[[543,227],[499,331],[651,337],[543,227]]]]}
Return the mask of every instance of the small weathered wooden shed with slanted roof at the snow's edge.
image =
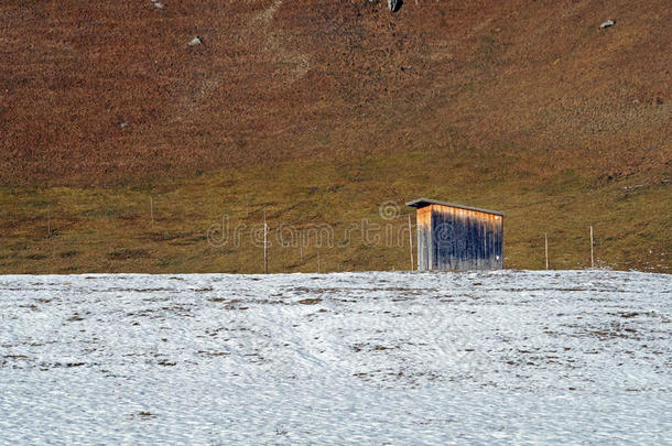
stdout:
{"type": "Polygon", "coordinates": [[[503,269],[503,217],[480,209],[418,198],[418,269],[437,271],[503,269]]]}

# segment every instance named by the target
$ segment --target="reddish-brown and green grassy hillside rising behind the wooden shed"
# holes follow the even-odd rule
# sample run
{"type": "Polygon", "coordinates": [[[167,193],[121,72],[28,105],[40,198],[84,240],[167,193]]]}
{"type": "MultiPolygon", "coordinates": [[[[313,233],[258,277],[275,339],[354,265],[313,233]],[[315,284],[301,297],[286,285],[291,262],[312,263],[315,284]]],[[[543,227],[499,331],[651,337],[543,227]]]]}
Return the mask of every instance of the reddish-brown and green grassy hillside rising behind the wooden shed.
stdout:
{"type": "MultiPolygon", "coordinates": [[[[672,268],[668,0],[384,3],[3,1],[0,268],[254,271],[251,248],[203,240],[245,195],[342,225],[462,200],[509,215],[512,266],[540,266],[545,231],[556,266],[585,265],[595,224],[605,264],[672,268]],[[137,221],[150,196],[169,227],[137,221]]],[[[332,261],[404,268],[398,251],[332,261]]]]}

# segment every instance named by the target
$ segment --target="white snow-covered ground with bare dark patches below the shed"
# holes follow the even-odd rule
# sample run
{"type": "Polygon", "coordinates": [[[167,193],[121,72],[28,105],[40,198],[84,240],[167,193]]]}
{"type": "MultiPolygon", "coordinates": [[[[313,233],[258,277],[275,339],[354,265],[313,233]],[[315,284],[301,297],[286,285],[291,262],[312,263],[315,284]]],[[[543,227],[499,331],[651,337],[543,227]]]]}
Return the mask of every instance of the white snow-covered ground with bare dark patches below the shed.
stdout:
{"type": "Polygon", "coordinates": [[[672,276],[0,276],[6,444],[664,444],[672,276]]]}

